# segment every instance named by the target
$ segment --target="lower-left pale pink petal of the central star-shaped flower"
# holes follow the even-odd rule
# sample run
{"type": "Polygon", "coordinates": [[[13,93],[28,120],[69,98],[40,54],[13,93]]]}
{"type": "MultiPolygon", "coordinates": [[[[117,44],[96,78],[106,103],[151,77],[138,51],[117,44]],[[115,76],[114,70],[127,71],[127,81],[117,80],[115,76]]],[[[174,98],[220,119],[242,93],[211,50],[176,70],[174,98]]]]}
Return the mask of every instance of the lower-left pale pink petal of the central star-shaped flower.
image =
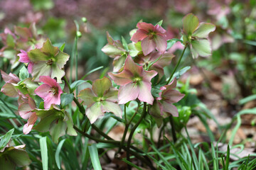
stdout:
{"type": "Polygon", "coordinates": [[[127,84],[120,87],[118,92],[119,104],[134,101],[139,96],[139,86],[137,84],[127,84]]]}

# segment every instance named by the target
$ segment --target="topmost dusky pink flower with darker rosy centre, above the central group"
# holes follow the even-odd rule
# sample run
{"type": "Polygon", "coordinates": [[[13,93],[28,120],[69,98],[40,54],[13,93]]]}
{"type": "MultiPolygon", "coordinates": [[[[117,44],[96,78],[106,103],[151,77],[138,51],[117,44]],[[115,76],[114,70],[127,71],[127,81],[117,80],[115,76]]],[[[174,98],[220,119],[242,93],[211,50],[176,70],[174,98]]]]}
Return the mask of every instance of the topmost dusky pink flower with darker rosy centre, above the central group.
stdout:
{"type": "Polygon", "coordinates": [[[161,53],[166,51],[166,30],[159,25],[153,26],[151,23],[137,23],[139,28],[131,40],[133,42],[142,41],[142,51],[144,55],[149,55],[153,50],[161,53]]]}

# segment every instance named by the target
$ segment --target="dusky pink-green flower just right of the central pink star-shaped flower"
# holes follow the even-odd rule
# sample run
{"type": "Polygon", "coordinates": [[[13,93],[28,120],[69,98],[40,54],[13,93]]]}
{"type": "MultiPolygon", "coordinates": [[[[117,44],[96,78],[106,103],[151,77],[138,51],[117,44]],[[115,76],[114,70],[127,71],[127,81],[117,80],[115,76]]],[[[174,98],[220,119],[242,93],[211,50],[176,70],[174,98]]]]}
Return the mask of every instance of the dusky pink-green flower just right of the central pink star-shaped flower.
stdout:
{"type": "Polygon", "coordinates": [[[176,79],[169,85],[161,86],[159,97],[156,98],[156,101],[149,110],[149,113],[156,119],[158,127],[160,127],[163,118],[167,118],[170,115],[178,117],[178,110],[172,103],[177,103],[185,95],[176,91],[175,87],[176,79]]]}

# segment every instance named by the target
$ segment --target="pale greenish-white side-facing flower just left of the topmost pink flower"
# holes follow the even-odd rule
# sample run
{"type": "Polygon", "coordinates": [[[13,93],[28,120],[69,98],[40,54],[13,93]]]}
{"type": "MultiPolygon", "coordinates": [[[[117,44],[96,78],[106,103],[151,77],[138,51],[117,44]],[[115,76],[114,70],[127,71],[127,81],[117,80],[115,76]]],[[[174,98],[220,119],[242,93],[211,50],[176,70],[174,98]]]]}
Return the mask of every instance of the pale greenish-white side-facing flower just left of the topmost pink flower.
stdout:
{"type": "Polygon", "coordinates": [[[107,32],[107,45],[102,48],[102,52],[106,55],[114,58],[113,72],[118,72],[122,68],[124,61],[127,58],[127,50],[124,49],[122,42],[119,40],[113,40],[110,33],[107,32]]]}

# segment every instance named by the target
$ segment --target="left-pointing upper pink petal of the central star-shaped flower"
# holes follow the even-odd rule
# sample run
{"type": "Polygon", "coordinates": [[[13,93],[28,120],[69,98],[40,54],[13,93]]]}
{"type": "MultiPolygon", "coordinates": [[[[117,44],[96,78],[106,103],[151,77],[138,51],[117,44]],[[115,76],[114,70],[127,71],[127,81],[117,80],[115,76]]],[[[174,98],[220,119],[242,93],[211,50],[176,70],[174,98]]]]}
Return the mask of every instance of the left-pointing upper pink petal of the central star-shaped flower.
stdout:
{"type": "Polygon", "coordinates": [[[119,86],[124,86],[131,83],[133,76],[132,72],[129,72],[129,70],[123,70],[118,74],[108,73],[108,75],[111,77],[112,80],[114,80],[114,83],[119,86]]]}

